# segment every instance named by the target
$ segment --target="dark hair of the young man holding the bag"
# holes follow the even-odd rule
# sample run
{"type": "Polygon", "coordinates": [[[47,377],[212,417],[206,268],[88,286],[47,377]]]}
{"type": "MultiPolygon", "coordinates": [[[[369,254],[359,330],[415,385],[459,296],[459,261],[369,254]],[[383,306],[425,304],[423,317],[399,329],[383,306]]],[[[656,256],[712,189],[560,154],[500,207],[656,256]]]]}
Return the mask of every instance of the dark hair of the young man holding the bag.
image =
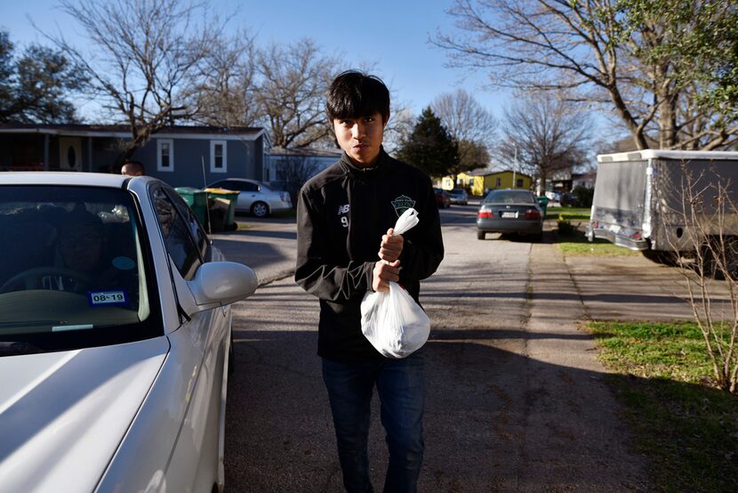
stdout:
{"type": "Polygon", "coordinates": [[[333,79],[325,109],[332,125],[336,118],[367,117],[377,112],[386,123],[389,120],[389,90],[379,77],[347,70],[333,79]]]}

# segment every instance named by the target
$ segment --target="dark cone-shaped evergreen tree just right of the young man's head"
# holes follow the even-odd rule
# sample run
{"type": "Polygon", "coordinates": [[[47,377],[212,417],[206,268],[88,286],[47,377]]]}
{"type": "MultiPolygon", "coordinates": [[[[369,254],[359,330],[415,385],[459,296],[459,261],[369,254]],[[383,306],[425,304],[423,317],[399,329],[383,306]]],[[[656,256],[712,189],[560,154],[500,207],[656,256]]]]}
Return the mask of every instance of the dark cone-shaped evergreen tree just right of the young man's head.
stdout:
{"type": "Polygon", "coordinates": [[[459,147],[441,119],[426,108],[397,156],[430,176],[445,176],[459,164],[459,147]]]}

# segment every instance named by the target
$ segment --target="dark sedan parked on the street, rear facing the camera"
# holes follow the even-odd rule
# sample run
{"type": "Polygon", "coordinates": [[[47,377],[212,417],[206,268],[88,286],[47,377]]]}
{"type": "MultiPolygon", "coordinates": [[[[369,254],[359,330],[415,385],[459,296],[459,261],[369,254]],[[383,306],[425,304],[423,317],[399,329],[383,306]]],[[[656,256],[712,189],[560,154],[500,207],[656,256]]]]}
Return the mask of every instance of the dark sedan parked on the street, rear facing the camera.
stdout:
{"type": "Polygon", "coordinates": [[[493,190],[477,212],[477,238],[486,233],[531,235],[534,241],[543,235],[543,214],[538,199],[527,190],[493,190]]]}

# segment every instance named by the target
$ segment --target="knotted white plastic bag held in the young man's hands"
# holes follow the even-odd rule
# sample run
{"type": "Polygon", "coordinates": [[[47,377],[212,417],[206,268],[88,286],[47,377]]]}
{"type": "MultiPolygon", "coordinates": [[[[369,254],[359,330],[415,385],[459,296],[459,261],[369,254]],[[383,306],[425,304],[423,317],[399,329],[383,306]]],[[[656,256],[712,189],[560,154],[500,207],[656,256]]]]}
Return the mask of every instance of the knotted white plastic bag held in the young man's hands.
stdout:
{"type": "MultiPolygon", "coordinates": [[[[397,219],[395,234],[418,223],[418,212],[409,208],[397,219]]],[[[396,282],[389,291],[366,293],[361,302],[361,331],[387,358],[405,358],[421,348],[430,334],[430,319],[418,303],[396,282]]]]}

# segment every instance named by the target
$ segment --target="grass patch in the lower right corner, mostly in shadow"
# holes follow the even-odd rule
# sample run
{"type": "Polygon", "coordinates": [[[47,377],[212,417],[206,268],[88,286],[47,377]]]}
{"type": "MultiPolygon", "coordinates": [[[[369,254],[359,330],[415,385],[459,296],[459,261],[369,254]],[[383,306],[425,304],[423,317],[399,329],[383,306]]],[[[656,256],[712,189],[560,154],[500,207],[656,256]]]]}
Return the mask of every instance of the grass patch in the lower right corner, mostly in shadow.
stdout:
{"type": "Polygon", "coordinates": [[[717,390],[690,322],[589,322],[657,491],[738,491],[738,396],[717,390]]]}

